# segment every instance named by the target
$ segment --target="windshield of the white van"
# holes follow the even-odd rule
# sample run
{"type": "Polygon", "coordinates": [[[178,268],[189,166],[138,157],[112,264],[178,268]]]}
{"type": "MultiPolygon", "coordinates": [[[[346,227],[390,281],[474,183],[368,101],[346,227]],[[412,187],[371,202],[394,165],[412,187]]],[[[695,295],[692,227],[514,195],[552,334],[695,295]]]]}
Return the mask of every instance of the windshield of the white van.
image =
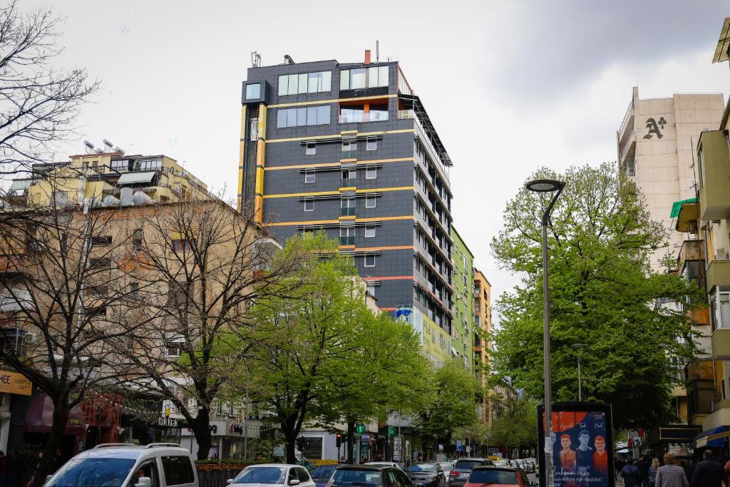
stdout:
{"type": "Polygon", "coordinates": [[[121,487],[134,459],[71,459],[45,484],[47,487],[121,487]]]}

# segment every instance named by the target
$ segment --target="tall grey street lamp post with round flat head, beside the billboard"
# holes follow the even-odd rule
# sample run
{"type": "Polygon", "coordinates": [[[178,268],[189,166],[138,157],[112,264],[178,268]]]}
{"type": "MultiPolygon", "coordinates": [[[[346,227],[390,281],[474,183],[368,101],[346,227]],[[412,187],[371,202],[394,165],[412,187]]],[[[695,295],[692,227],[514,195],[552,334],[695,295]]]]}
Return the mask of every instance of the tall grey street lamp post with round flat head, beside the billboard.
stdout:
{"type": "Polygon", "coordinates": [[[542,334],[545,375],[545,485],[553,487],[553,442],[552,416],[553,391],[550,386],[550,296],[548,295],[548,223],[558,196],[565,188],[565,183],[557,180],[529,181],[525,187],[537,193],[555,193],[550,204],[542,213],[542,334]]]}

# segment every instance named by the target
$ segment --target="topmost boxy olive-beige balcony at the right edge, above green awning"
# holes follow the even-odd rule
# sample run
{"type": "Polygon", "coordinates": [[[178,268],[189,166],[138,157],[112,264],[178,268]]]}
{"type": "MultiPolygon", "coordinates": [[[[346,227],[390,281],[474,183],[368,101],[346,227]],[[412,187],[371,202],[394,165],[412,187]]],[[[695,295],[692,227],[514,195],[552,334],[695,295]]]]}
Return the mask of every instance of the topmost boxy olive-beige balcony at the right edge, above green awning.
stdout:
{"type": "Polygon", "coordinates": [[[728,131],[703,131],[697,143],[699,207],[703,221],[730,216],[730,148],[728,131]]]}

